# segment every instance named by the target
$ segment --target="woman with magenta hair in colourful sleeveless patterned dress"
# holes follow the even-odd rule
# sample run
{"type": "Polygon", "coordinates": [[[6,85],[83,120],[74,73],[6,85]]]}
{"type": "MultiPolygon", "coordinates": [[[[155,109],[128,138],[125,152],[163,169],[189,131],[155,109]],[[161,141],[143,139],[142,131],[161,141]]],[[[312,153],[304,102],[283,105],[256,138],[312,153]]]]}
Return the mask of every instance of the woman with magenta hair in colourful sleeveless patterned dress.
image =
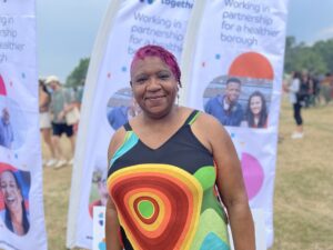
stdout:
{"type": "Polygon", "coordinates": [[[142,112],[110,142],[108,250],[229,249],[215,187],[235,249],[255,248],[235,149],[215,118],[175,104],[180,77],[163,48],[137,51],[131,87],[142,112]]]}

